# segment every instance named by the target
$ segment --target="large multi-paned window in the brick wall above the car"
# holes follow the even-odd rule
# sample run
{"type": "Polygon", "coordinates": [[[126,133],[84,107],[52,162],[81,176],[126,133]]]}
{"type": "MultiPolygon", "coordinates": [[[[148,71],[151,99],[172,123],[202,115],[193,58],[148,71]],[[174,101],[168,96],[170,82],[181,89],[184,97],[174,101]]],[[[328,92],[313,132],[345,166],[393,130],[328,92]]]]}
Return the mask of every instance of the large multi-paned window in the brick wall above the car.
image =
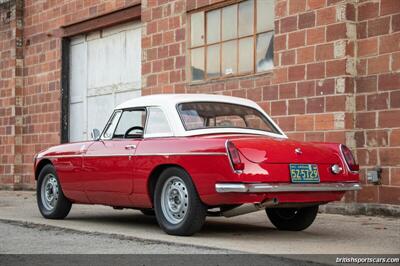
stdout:
{"type": "Polygon", "coordinates": [[[273,67],[275,0],[246,0],[190,16],[191,80],[273,67]]]}

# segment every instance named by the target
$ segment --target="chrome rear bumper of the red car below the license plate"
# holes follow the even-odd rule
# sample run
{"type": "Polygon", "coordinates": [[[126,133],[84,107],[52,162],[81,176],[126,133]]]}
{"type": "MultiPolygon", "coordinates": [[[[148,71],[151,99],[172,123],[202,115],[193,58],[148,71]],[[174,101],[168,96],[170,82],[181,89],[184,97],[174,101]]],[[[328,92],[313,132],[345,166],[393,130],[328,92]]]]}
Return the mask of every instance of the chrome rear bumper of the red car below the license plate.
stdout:
{"type": "Polygon", "coordinates": [[[288,184],[288,183],[219,183],[215,184],[218,193],[262,193],[262,192],[328,192],[360,190],[359,183],[319,183],[319,184],[288,184]]]}

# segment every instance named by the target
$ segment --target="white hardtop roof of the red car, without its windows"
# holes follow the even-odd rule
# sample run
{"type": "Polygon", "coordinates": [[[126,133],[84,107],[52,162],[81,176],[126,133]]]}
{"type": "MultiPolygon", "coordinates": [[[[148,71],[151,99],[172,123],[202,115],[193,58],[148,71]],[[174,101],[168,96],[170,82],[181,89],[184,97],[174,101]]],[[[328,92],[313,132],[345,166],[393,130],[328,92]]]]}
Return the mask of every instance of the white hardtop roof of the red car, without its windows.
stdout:
{"type": "MultiPolygon", "coordinates": [[[[195,136],[205,134],[218,134],[218,133],[241,133],[241,134],[256,134],[267,135],[277,138],[287,138],[285,133],[278,127],[277,124],[264,112],[264,110],[255,102],[232,96],[217,95],[217,94],[154,94],[128,100],[121,103],[115,110],[130,109],[137,107],[158,107],[163,110],[168,123],[171,127],[172,136],[195,136]],[[246,128],[205,128],[196,130],[185,130],[182,121],[179,117],[176,105],[186,102],[222,102],[232,103],[243,106],[252,107],[261,112],[265,117],[278,129],[281,134],[275,134],[262,130],[246,129],[246,128]]],[[[160,135],[164,136],[164,135],[160,135]]],[[[171,136],[171,137],[172,137],[171,136]]],[[[146,134],[145,134],[146,137],[146,134]]],[[[150,136],[148,136],[150,137],[150,136]]],[[[157,137],[152,135],[151,137],[157,137]]]]}

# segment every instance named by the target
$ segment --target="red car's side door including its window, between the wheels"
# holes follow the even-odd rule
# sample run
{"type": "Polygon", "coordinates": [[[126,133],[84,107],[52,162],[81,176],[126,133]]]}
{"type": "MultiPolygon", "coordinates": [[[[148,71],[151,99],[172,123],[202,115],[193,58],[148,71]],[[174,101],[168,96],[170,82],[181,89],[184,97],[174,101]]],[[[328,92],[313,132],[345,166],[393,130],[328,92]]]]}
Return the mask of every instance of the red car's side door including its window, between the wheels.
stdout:
{"type": "Polygon", "coordinates": [[[134,155],[143,137],[145,117],[144,109],[116,111],[100,139],[85,152],[84,186],[92,203],[119,206],[129,202],[134,155]]]}

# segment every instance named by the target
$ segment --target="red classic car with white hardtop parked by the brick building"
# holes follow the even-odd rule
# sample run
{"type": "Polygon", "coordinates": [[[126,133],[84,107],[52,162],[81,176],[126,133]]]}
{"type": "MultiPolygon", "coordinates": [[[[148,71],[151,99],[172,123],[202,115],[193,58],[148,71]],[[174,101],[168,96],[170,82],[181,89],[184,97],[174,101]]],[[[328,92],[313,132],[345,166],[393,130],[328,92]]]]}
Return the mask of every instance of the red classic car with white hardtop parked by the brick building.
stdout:
{"type": "Polygon", "coordinates": [[[35,155],[45,218],[73,203],[139,209],[168,234],[192,235],[206,216],[265,210],[280,230],[310,226],[318,206],[358,190],[343,144],[289,140],[256,103],[206,94],[144,96],[114,109],[93,141],[35,155]]]}

